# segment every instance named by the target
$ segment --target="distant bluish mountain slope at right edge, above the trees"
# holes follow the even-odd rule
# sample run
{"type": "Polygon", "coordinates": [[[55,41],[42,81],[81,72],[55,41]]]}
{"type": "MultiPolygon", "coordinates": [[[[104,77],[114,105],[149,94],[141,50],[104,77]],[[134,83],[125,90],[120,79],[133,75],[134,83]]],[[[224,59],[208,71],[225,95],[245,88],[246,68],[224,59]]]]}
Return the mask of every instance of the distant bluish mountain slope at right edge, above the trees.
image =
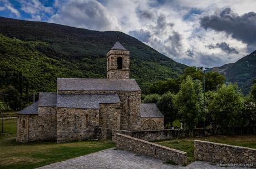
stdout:
{"type": "Polygon", "coordinates": [[[211,68],[226,76],[227,81],[237,83],[244,94],[248,94],[253,80],[256,80],[256,50],[232,64],[211,68]]]}

